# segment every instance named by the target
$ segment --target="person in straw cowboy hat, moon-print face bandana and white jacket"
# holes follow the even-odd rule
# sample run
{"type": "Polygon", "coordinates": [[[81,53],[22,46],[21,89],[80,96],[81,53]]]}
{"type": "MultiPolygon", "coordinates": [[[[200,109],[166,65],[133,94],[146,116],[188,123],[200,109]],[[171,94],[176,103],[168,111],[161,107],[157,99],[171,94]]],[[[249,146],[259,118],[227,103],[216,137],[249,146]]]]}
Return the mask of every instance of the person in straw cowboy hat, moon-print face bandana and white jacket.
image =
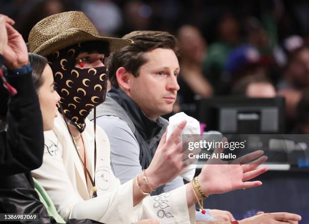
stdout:
{"type": "Polygon", "coordinates": [[[30,50],[47,57],[61,96],[61,114],[58,113],[53,131],[44,133],[43,164],[33,171],[33,176],[46,189],[60,215],[64,219],[91,217],[105,223],[143,218],[194,223],[196,197],[261,185],[248,180],[264,173],[265,168],[206,165],[196,182],[198,196],[190,185],[185,185],[146,197],[187,166],[182,162],[182,145],[177,140],[186,122],[167,141],[164,135],[146,173],[120,185],[111,171],[107,135],[86,117],[106,98],[105,57],[129,43],[125,39],[100,37],[81,12],[47,17],[30,32],[30,50]]]}

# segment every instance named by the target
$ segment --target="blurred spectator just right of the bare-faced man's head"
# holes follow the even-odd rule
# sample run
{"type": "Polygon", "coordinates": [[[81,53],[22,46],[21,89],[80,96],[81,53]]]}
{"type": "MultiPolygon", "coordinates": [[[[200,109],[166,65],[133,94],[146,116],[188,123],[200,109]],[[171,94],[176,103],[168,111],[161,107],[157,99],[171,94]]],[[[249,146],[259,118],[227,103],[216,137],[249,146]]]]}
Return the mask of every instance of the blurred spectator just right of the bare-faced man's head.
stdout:
{"type": "Polygon", "coordinates": [[[213,95],[213,87],[203,77],[201,63],[206,53],[206,41],[199,30],[191,25],[184,25],[178,31],[180,46],[180,76],[177,102],[186,114],[194,112],[195,99],[213,95]],[[187,111],[188,110],[188,111],[187,111]]]}

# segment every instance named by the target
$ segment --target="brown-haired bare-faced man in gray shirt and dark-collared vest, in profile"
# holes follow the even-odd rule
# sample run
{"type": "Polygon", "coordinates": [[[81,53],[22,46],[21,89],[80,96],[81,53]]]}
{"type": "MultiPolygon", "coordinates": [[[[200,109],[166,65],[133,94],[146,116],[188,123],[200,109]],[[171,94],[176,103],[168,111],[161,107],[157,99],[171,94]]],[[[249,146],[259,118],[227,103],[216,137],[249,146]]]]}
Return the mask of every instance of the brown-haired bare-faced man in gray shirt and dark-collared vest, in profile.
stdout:
{"type": "MultiPolygon", "coordinates": [[[[123,38],[134,42],[115,52],[109,65],[112,88],[96,107],[96,124],[111,144],[111,167],[121,183],[134,178],[150,164],[168,122],[179,85],[177,40],[161,31],[134,31],[123,38]]],[[[90,120],[93,114],[90,114],[90,120]]],[[[159,195],[183,185],[177,177],[158,188],[159,195]]],[[[228,211],[208,210],[203,220],[233,220],[228,211]]]]}

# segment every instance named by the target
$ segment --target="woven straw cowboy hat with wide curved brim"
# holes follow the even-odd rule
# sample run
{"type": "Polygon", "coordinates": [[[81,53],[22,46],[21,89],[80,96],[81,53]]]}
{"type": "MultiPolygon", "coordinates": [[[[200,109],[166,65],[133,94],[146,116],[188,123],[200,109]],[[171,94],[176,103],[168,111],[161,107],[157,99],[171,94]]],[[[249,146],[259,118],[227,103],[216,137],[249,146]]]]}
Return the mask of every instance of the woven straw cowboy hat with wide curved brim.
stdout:
{"type": "Polygon", "coordinates": [[[113,52],[127,46],[132,40],[102,37],[82,12],[59,13],[39,21],[29,34],[30,52],[47,56],[57,50],[92,40],[107,41],[113,52]]]}

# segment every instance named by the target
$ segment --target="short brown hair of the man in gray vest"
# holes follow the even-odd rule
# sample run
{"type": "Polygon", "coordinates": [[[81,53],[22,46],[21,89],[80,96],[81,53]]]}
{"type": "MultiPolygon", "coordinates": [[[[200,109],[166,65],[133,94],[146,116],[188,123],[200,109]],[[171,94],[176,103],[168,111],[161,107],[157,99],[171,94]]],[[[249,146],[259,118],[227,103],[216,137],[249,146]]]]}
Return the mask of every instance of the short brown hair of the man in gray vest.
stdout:
{"type": "Polygon", "coordinates": [[[138,77],[139,68],[147,62],[144,53],[156,49],[172,49],[179,56],[178,41],[172,34],[163,31],[133,31],[122,38],[134,42],[113,53],[109,63],[109,79],[118,88],[116,71],[124,67],[134,77],[138,77]]]}

